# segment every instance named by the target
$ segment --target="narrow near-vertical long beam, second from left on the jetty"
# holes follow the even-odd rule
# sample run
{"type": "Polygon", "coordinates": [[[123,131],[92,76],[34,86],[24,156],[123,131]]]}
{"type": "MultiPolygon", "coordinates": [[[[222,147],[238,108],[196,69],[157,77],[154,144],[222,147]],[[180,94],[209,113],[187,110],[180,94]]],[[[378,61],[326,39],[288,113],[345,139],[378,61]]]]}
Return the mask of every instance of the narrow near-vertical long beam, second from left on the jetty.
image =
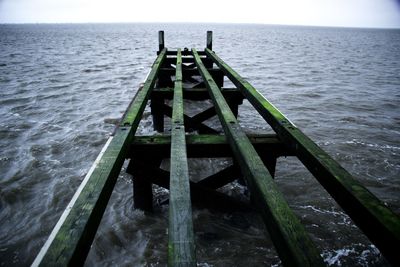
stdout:
{"type": "Polygon", "coordinates": [[[178,50],[171,130],[168,265],[196,266],[189,171],[183,121],[182,58],[178,50]]]}

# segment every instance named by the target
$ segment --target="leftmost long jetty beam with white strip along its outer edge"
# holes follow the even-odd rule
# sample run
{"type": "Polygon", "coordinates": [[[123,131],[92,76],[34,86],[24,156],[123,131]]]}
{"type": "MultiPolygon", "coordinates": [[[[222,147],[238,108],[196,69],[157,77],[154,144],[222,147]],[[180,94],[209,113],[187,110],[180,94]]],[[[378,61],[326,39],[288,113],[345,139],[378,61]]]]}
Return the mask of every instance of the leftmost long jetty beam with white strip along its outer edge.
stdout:
{"type": "Polygon", "coordinates": [[[83,265],[165,55],[164,49],[125,113],[125,126],[119,127],[107,142],[32,266],[83,265]]]}

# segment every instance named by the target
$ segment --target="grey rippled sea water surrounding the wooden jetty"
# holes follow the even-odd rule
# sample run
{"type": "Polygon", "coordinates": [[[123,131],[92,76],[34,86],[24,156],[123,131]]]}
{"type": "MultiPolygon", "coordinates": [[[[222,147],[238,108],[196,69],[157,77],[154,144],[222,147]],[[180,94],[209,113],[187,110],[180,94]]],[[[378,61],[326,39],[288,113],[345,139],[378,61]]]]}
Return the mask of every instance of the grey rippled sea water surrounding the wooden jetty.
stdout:
{"type": "MultiPolygon", "coordinates": [[[[400,31],[260,25],[0,25],[0,265],[29,265],[154,61],[167,47],[214,50],[374,194],[400,213],[400,31]]],[[[270,131],[244,103],[249,132],[270,131]]],[[[139,129],[152,133],[149,112],[139,129]]],[[[193,179],[229,159],[191,161],[193,179]],[[211,166],[211,167],[210,167],[211,166]]],[[[220,165],[220,166],[218,166],[220,165]]],[[[295,159],[276,182],[328,264],[386,266],[295,159]]],[[[242,186],[222,189],[238,198],[242,186]]],[[[155,199],[165,198],[155,188],[155,199]]],[[[164,266],[168,205],[133,209],[123,171],[87,266],[164,266]]],[[[254,212],[194,209],[201,266],[280,265],[254,212]]]]}

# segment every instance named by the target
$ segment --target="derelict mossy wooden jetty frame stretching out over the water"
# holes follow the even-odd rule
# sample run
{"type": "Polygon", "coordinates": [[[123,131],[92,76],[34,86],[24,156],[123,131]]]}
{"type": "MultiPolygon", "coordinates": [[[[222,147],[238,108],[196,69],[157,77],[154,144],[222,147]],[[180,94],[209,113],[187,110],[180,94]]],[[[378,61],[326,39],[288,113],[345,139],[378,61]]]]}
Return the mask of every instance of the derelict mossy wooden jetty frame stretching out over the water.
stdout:
{"type": "Polygon", "coordinates": [[[157,54],[146,81],[33,266],[83,265],[125,160],[130,160],[127,172],[134,177],[135,208],[152,210],[152,184],[169,189],[169,266],[196,266],[192,202],[235,208],[236,204],[216,189],[237,178],[244,178],[251,205],[262,215],[285,266],[325,265],[317,246],[274,182],[276,159],[280,156],[297,157],[384,257],[392,265],[400,266],[399,216],[219,58],[212,50],[212,32],[207,32],[205,50],[169,51],[164,45],[164,32],[160,31],[157,54]],[[223,87],[225,77],[235,88],[223,87]],[[244,132],[237,120],[243,99],[254,106],[276,134],[244,132]],[[211,100],[213,106],[189,116],[184,112],[185,100],[211,100]],[[136,136],[149,101],[154,129],[162,134],[136,136]],[[204,123],[215,115],[223,132],[204,123]],[[171,118],[170,131],[165,129],[165,117],[171,118]],[[234,164],[192,182],[187,161],[192,157],[232,157],[234,164]],[[160,168],[167,158],[169,172],[160,168]]]}

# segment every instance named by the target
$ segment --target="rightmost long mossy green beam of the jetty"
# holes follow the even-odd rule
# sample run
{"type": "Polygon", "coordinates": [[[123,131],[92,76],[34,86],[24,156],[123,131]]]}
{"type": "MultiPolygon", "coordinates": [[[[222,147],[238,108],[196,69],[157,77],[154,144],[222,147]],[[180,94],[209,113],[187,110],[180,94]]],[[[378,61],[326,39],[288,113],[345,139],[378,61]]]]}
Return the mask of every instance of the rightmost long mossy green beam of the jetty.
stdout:
{"type": "Polygon", "coordinates": [[[279,138],[295,151],[301,162],[382,254],[393,265],[400,265],[399,216],[301,132],[213,51],[206,49],[206,53],[242,91],[243,95],[276,131],[279,138]]]}

